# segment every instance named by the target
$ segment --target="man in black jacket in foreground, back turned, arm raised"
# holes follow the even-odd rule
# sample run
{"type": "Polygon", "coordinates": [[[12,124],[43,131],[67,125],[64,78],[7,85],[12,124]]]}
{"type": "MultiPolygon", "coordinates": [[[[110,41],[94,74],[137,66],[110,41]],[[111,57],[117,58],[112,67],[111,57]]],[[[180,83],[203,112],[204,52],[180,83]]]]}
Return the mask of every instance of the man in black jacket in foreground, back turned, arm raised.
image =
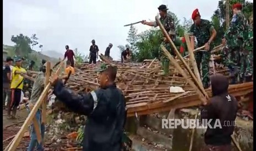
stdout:
{"type": "Polygon", "coordinates": [[[101,65],[100,88],[85,95],[73,95],[64,88],[57,75],[51,83],[53,94],[74,112],[88,116],[83,150],[121,150],[126,103],[122,91],[116,87],[116,67],[101,65]]]}

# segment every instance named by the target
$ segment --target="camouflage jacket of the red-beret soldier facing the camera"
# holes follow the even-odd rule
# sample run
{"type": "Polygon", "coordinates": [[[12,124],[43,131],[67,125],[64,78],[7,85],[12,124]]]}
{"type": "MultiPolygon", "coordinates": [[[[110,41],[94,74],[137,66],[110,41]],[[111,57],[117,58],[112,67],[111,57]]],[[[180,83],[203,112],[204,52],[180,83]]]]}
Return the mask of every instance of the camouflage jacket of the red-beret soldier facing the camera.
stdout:
{"type": "Polygon", "coordinates": [[[211,37],[214,26],[209,20],[201,19],[200,25],[190,27],[190,35],[197,38],[198,47],[205,45],[211,37]]]}

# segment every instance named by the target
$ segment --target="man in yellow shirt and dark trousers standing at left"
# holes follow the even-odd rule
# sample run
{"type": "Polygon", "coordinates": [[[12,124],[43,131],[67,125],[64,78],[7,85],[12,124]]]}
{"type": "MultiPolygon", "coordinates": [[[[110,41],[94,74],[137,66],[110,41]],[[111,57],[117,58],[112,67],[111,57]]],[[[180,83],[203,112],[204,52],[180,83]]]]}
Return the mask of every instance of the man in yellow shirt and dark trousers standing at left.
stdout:
{"type": "Polygon", "coordinates": [[[12,69],[12,82],[10,84],[11,89],[11,101],[8,106],[7,115],[8,118],[15,119],[17,107],[20,103],[21,91],[23,89],[23,74],[26,74],[26,70],[21,67],[21,63],[24,59],[20,57],[16,57],[14,59],[15,66],[12,69]],[[12,115],[10,115],[10,111],[12,109],[12,115]]]}

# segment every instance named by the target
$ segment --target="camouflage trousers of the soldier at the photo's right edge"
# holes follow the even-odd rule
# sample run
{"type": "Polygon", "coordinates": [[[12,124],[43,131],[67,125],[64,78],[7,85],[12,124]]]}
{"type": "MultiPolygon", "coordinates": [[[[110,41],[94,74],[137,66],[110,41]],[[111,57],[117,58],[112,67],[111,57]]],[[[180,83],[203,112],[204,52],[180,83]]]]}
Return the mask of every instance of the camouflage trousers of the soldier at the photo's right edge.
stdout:
{"type": "Polygon", "coordinates": [[[253,75],[253,51],[241,54],[240,77],[250,77],[253,75]]]}

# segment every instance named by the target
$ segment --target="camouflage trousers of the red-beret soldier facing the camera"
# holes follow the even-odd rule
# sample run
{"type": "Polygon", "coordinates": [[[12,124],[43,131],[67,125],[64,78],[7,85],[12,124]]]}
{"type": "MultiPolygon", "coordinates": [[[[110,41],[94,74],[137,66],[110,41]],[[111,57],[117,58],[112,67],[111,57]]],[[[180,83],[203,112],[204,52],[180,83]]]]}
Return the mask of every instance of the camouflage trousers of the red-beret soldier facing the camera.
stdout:
{"type": "Polygon", "coordinates": [[[210,51],[198,51],[195,53],[195,61],[197,62],[197,68],[200,75],[202,75],[202,83],[204,88],[208,88],[210,76],[209,76],[209,61],[210,61],[210,51]],[[201,67],[201,72],[200,72],[201,67]]]}

